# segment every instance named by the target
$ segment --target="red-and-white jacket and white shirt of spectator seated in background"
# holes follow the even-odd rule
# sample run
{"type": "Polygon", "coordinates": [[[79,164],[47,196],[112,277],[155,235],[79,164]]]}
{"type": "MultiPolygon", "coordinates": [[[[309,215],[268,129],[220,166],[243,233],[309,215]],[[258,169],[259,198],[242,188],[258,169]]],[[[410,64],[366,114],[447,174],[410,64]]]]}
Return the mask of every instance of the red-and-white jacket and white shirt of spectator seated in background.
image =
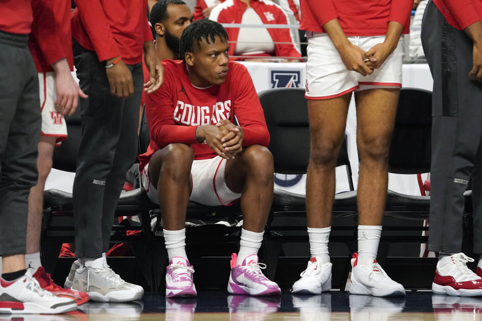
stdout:
{"type": "MultiPolygon", "coordinates": [[[[220,24],[288,24],[288,17],[283,8],[268,0],[226,0],[211,11],[209,19],[220,24]]],[[[298,45],[288,28],[243,27],[226,28],[226,31],[229,42],[232,44],[229,49],[232,60],[282,62],[302,60],[298,45]],[[250,58],[232,56],[249,56],[250,58]],[[253,56],[260,58],[253,58],[253,56]]]]}

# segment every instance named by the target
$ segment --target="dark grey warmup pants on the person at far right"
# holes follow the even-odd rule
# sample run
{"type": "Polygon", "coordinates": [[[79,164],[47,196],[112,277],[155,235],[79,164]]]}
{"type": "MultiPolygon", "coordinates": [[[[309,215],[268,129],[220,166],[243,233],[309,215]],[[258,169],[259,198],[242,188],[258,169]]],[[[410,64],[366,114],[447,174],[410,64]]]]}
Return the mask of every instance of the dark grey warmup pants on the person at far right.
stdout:
{"type": "MultiPolygon", "coordinates": [[[[434,79],[428,249],[458,253],[463,192],[472,176],[474,196],[480,195],[482,183],[477,175],[482,163],[482,84],[468,77],[472,41],[451,27],[432,1],[423,17],[422,45],[434,79]]],[[[475,197],[475,207],[478,202],[475,197]]],[[[482,252],[480,220],[474,216],[475,252],[482,252]]]]}

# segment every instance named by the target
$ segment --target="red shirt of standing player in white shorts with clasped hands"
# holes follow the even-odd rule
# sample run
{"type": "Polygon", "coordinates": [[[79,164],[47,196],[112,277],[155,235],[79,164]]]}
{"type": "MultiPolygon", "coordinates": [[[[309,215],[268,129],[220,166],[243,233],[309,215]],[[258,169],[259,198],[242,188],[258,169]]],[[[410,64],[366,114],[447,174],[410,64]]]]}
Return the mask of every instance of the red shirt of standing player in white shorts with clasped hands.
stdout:
{"type": "Polygon", "coordinates": [[[408,34],[412,5],[413,0],[300,0],[300,29],[324,32],[322,26],[337,18],[346,36],[386,35],[390,21],[408,34]]]}

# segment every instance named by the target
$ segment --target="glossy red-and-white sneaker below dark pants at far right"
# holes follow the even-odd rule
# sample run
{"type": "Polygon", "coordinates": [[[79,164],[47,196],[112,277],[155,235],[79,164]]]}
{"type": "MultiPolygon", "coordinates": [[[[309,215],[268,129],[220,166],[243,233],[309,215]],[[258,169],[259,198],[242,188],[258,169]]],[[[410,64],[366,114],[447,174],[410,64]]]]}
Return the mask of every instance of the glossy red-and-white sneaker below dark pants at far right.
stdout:
{"type": "Polygon", "coordinates": [[[473,259],[463,253],[438,260],[432,292],[456,296],[482,295],[482,278],[467,267],[467,262],[473,262],[473,259]]]}

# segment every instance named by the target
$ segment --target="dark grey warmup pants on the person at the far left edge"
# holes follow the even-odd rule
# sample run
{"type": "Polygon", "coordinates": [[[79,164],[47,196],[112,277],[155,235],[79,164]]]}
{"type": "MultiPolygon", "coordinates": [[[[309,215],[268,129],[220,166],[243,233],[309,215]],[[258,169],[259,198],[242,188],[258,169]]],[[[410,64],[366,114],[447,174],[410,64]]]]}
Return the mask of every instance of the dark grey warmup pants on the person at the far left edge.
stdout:
{"type": "Polygon", "coordinates": [[[0,31],[0,255],[25,254],[29,193],[37,184],[39,78],[28,39],[0,31]]]}

